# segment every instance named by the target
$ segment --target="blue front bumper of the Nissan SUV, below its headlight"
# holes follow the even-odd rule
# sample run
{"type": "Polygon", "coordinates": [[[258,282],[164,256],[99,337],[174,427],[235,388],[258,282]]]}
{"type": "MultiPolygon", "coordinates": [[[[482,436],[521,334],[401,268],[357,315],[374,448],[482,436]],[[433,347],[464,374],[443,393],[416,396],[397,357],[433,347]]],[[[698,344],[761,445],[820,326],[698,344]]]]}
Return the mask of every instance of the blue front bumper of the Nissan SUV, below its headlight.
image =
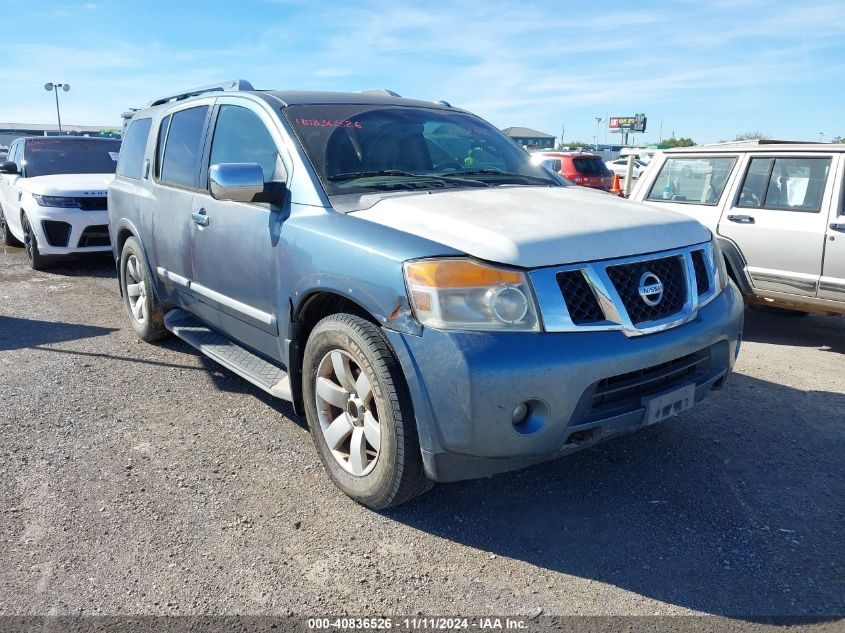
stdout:
{"type": "Polygon", "coordinates": [[[694,320],[645,336],[430,328],[422,336],[387,335],[411,392],[426,472],[455,481],[522,468],[642,427],[639,397],[648,389],[694,382],[699,402],[731,371],[742,324],[742,297],[730,283],[694,320]],[[669,382],[644,385],[635,402],[596,405],[606,379],[627,380],[686,358],[705,360],[669,382]],[[517,430],[512,415],[523,402],[539,417],[517,430]]]}

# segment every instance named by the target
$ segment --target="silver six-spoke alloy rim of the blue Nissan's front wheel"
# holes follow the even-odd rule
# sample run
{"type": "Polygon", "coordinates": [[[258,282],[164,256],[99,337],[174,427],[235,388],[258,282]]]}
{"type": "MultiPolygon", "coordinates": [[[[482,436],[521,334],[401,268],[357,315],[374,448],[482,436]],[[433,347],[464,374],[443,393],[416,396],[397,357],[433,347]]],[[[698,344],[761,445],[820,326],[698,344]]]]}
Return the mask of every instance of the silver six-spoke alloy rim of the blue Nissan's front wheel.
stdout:
{"type": "Polygon", "coordinates": [[[372,472],[381,450],[381,425],[370,377],[348,352],[335,349],[320,361],[315,398],[323,439],[347,473],[372,472]]]}

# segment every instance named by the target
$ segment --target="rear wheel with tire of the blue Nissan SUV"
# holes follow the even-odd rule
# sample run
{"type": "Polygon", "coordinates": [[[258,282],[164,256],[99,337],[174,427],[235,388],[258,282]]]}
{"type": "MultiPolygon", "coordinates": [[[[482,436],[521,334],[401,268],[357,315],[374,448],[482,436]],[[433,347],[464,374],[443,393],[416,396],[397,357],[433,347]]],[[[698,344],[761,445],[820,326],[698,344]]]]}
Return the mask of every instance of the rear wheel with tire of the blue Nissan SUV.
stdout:
{"type": "Polygon", "coordinates": [[[134,237],[127,239],[123,245],[119,272],[123,307],[138,338],[152,343],[169,336],[164,327],[164,310],[153,289],[144,251],[134,237]]]}

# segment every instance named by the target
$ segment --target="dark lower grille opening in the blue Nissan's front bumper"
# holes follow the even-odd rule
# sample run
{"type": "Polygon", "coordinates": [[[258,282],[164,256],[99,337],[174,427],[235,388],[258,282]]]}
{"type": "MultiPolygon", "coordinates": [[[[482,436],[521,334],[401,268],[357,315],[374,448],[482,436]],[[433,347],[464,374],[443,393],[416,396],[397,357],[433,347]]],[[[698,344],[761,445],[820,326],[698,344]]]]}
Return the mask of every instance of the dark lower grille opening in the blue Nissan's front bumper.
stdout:
{"type": "Polygon", "coordinates": [[[643,397],[685,382],[693,374],[706,370],[709,364],[708,347],[668,363],[605,378],[593,393],[590,415],[606,415],[611,410],[639,407],[643,397]]]}

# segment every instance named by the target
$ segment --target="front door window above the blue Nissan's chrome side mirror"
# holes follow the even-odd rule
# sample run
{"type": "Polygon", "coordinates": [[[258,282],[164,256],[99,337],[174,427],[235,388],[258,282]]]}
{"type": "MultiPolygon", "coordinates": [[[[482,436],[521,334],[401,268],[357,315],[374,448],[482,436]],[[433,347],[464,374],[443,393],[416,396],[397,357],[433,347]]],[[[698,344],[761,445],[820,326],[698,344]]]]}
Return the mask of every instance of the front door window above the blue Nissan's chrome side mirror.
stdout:
{"type": "Polygon", "coordinates": [[[217,163],[258,163],[264,182],[285,179],[270,132],[254,112],[238,106],[220,107],[211,144],[211,164],[217,163]]]}

